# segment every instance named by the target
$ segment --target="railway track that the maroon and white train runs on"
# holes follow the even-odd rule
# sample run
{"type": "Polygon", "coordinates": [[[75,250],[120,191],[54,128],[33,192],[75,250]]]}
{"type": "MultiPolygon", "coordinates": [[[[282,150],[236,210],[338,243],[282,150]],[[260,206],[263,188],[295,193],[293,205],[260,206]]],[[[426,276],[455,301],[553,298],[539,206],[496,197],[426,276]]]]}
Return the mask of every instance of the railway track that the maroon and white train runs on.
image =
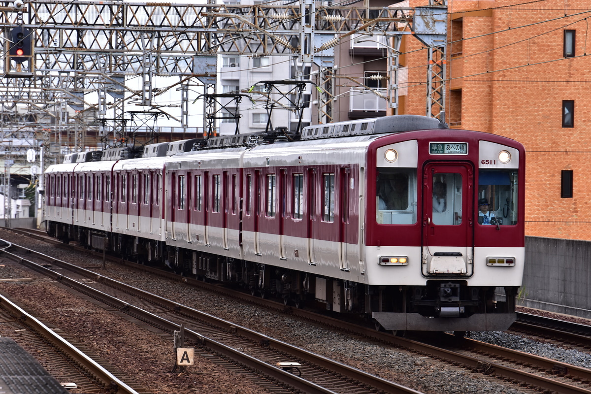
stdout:
{"type": "MultiPolygon", "coordinates": [[[[134,263],[129,262],[126,262],[126,264],[134,265],[134,263]]],[[[138,268],[144,271],[149,269],[145,266],[138,268]]],[[[96,276],[96,273],[92,275],[96,276]]],[[[158,275],[176,278],[176,280],[200,286],[201,288],[206,288],[228,297],[239,297],[249,302],[264,304],[276,310],[285,311],[286,308],[285,305],[271,300],[252,297],[249,294],[236,294],[231,289],[226,289],[219,285],[206,284],[196,279],[180,277],[170,272],[159,271],[158,275]]],[[[518,382],[522,386],[535,387],[547,392],[591,393],[589,390],[589,380],[591,379],[589,370],[544,359],[543,357],[495,347],[478,341],[467,339],[458,340],[458,338],[453,338],[452,336],[448,336],[449,338],[444,337],[443,340],[440,338],[436,344],[430,344],[428,341],[411,340],[410,338],[395,337],[388,333],[379,333],[371,328],[359,327],[357,324],[334,320],[307,310],[290,308],[290,312],[299,317],[319,321],[322,324],[339,328],[339,330],[345,330],[349,333],[378,340],[381,344],[388,344],[408,349],[421,355],[435,357],[482,373],[482,375],[518,382]],[[527,368],[522,366],[527,366],[527,368]]]]}

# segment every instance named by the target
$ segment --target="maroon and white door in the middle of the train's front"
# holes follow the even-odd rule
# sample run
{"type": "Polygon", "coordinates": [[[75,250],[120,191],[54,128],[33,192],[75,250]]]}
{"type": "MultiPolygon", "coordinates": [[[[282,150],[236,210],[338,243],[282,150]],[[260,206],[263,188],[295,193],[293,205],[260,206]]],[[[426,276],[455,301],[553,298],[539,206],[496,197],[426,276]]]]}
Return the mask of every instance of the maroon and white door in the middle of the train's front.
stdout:
{"type": "Polygon", "coordinates": [[[473,183],[474,171],[467,162],[424,168],[423,275],[472,275],[473,183]]]}

